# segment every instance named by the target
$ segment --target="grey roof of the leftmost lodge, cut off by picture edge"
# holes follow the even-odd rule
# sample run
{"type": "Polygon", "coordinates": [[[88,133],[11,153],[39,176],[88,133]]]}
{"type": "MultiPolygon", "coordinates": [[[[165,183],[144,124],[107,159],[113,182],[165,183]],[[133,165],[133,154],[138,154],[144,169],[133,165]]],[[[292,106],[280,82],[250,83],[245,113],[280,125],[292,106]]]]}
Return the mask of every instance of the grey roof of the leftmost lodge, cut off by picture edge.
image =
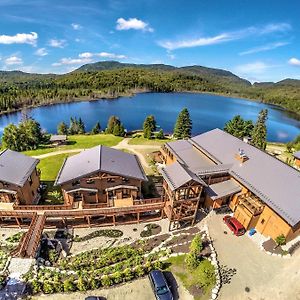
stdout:
{"type": "Polygon", "coordinates": [[[23,186],[39,160],[6,149],[0,152],[0,181],[23,186]]]}

